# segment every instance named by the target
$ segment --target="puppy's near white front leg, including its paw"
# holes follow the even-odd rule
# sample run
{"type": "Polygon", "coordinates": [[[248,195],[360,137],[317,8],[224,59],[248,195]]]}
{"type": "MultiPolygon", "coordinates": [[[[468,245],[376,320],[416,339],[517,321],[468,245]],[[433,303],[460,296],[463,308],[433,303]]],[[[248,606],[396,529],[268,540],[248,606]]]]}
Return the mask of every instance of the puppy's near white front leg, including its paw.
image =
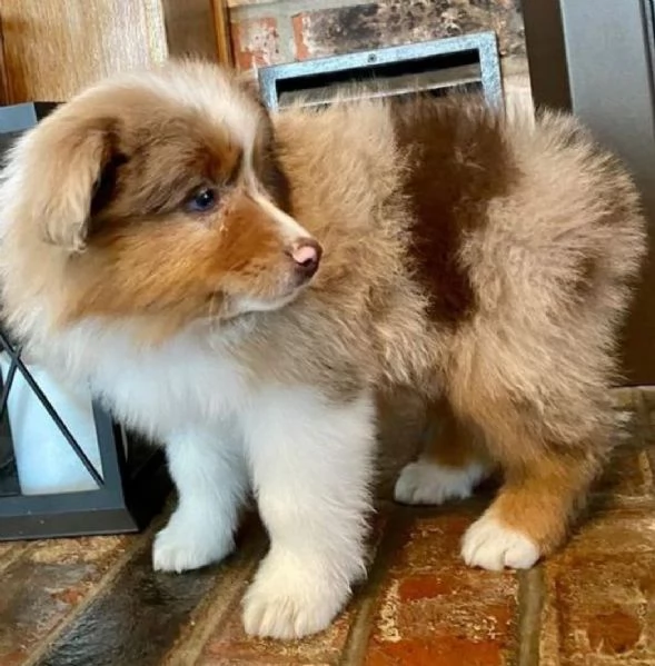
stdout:
{"type": "Polygon", "coordinates": [[[365,574],[374,418],[368,392],[338,402],[276,388],[256,400],[246,440],[270,550],[244,602],[248,634],[325,629],[365,574]]]}

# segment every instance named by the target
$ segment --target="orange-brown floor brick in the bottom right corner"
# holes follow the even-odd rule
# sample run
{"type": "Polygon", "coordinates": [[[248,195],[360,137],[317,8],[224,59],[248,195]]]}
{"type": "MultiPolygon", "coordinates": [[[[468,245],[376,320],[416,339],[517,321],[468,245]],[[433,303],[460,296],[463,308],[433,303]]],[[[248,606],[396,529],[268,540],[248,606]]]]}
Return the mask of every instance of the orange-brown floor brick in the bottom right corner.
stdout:
{"type": "Polygon", "coordinates": [[[655,507],[603,511],[545,565],[544,664],[655,663],[655,507]]]}

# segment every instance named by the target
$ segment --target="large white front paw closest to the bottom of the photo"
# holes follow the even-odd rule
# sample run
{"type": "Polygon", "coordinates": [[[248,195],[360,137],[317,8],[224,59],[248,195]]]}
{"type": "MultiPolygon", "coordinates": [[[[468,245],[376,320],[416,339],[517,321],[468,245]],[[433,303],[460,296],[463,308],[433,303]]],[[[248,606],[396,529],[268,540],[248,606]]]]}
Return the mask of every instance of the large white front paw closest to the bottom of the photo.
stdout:
{"type": "Polygon", "coordinates": [[[328,568],[271,553],[244,598],[244,627],[251,636],[301,638],[327,628],[349,595],[328,568]]]}

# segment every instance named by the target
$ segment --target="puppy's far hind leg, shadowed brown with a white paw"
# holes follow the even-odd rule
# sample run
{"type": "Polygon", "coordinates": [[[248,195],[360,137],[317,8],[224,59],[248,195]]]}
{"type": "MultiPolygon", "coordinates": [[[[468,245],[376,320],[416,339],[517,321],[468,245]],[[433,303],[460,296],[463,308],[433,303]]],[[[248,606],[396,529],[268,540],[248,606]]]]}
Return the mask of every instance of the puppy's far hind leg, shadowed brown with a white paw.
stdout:
{"type": "Polygon", "coordinates": [[[434,404],[428,412],[423,450],[396,481],[396,501],[439,505],[469,497],[492,471],[475,437],[474,430],[456,418],[446,399],[434,404]]]}

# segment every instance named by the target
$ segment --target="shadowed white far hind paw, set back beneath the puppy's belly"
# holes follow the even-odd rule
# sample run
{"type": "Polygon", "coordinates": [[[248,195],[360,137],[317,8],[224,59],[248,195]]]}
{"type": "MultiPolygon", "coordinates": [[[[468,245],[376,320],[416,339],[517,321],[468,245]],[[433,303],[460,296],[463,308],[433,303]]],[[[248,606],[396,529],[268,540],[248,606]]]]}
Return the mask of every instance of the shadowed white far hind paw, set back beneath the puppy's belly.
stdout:
{"type": "Polygon", "coordinates": [[[403,469],[394,497],[401,504],[430,505],[451,498],[466,499],[485,475],[486,468],[479,463],[456,468],[419,459],[403,469]]]}

